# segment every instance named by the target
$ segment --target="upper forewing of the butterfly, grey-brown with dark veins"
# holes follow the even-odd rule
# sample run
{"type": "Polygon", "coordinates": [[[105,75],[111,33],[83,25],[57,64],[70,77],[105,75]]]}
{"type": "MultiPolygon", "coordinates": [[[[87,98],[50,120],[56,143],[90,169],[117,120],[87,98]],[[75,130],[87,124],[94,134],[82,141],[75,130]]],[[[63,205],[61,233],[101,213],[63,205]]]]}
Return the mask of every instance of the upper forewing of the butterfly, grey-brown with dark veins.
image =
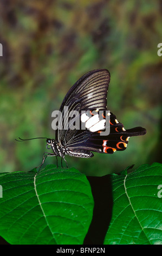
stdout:
{"type": "Polygon", "coordinates": [[[62,120],[59,121],[59,129],[56,130],[56,140],[60,145],[66,146],[69,141],[73,141],[72,138],[81,143],[90,137],[90,133],[87,131],[65,130],[64,127],[70,121],[70,118],[67,119],[67,115],[70,111],[77,111],[80,115],[82,109],[106,109],[109,81],[110,74],[108,70],[96,69],[83,75],[70,88],[60,107],[62,120]]]}

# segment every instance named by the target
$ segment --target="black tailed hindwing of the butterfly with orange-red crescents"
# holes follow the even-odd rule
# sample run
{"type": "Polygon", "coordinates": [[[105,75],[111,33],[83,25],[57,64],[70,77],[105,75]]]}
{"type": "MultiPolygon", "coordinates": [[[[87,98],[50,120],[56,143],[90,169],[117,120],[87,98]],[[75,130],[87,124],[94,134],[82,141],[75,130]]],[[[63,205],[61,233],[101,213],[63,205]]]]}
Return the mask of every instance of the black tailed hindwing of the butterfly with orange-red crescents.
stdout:
{"type": "Polygon", "coordinates": [[[79,151],[81,149],[86,149],[98,153],[113,154],[115,151],[122,151],[127,148],[129,137],[144,135],[146,133],[146,129],[142,127],[134,127],[132,129],[125,130],[124,125],[118,122],[113,113],[110,115],[109,125],[110,132],[107,136],[100,135],[102,134],[102,131],[85,131],[85,141],[78,142],[78,133],[73,141],[69,141],[67,145],[68,149],[70,149],[70,152],[73,150],[79,151]],[[89,137],[88,133],[90,133],[89,137]],[[86,135],[88,138],[86,138],[86,135]]]}

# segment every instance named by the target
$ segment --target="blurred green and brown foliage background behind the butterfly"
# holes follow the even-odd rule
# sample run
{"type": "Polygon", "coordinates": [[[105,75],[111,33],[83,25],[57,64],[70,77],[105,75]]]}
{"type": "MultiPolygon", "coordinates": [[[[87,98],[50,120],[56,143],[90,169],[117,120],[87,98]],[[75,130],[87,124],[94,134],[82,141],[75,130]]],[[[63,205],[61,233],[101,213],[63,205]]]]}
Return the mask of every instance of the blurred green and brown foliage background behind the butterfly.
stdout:
{"type": "Polygon", "coordinates": [[[104,175],[161,161],[161,1],[2,0],[0,9],[1,172],[42,162],[46,140],[15,138],[55,138],[51,113],[83,74],[98,68],[111,73],[108,110],[125,129],[142,126],[147,134],[113,155],[66,156],[69,167],[104,175]]]}

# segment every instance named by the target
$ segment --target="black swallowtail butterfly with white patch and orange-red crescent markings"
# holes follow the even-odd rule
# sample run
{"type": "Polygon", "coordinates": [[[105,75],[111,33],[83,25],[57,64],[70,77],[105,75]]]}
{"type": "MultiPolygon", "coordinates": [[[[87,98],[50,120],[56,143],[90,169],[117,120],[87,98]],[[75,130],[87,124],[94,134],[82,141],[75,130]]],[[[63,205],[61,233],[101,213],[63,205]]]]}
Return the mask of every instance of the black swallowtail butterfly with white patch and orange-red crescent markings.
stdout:
{"type": "MultiPolygon", "coordinates": [[[[106,111],[109,81],[110,74],[106,69],[92,70],[83,75],[70,88],[62,101],[60,111],[63,118],[67,114],[64,113],[64,106],[67,106],[69,111],[76,110],[79,112],[80,121],[82,110],[106,111]]],[[[69,118],[68,121],[71,119],[69,118]]],[[[112,154],[116,150],[125,150],[129,137],[146,133],[146,129],[142,127],[125,130],[124,125],[119,123],[112,113],[110,113],[109,124],[110,132],[107,136],[100,135],[102,130],[92,132],[89,129],[72,130],[70,127],[64,130],[64,126],[62,126],[62,130],[56,130],[55,139],[47,138],[47,148],[50,146],[53,154],[46,152],[43,156],[43,162],[47,156],[56,156],[56,158],[60,156],[66,161],[65,155],[89,158],[94,156],[92,151],[112,154]]],[[[59,127],[61,125],[63,125],[63,119],[59,121],[59,127]]],[[[21,139],[21,141],[24,140],[21,139]]]]}

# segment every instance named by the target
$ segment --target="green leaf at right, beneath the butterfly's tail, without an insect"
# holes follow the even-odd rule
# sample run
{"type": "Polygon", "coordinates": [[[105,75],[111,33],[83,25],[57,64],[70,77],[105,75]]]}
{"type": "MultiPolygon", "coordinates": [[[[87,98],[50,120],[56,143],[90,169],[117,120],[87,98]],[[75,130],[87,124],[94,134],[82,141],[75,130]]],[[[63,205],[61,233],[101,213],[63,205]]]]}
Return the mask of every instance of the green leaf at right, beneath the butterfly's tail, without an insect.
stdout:
{"type": "Polygon", "coordinates": [[[162,164],[144,164],[112,179],[113,216],[105,244],[162,244],[162,164]]]}

